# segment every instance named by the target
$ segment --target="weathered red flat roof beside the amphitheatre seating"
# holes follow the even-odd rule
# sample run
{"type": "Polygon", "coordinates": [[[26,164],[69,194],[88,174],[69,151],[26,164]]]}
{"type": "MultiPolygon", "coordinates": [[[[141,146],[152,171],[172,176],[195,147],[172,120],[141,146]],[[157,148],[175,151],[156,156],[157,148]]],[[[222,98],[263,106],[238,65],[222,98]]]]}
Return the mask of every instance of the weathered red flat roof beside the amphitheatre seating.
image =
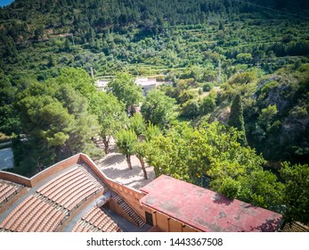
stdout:
{"type": "Polygon", "coordinates": [[[141,190],[147,193],[142,204],[201,231],[274,231],[282,220],[279,213],[166,175],[141,190]]]}

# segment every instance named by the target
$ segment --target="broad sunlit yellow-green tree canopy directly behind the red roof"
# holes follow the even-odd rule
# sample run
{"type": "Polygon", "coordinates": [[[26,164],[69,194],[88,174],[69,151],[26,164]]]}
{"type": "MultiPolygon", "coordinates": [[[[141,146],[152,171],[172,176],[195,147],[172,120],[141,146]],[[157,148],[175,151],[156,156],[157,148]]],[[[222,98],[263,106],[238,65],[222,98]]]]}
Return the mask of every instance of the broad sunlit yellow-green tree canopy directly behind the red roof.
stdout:
{"type": "Polygon", "coordinates": [[[207,175],[210,187],[224,196],[278,209],[283,185],[263,170],[261,155],[240,145],[240,137],[239,130],[216,122],[202,123],[199,128],[182,123],[152,137],[145,159],[157,176],[167,174],[197,184],[207,175]]]}

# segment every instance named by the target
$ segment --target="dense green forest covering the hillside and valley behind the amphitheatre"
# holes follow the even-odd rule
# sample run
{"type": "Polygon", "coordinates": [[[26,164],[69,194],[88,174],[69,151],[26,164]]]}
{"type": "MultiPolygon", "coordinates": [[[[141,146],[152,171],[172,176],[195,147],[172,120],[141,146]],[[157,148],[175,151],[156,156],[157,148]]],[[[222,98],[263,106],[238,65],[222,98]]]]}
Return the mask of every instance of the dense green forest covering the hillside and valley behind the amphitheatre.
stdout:
{"type": "Polygon", "coordinates": [[[7,171],[100,159],[114,138],[145,179],[147,163],[308,224],[308,17],[306,0],[15,0],[0,8],[7,171]]]}

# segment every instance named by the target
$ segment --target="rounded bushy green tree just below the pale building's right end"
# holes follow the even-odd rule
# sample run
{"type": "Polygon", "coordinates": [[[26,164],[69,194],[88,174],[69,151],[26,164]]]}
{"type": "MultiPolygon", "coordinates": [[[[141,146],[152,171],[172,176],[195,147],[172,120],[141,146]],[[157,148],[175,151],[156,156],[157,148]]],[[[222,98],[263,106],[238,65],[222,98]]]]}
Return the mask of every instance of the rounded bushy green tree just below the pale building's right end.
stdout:
{"type": "Polygon", "coordinates": [[[142,116],[146,121],[164,128],[171,119],[174,104],[175,99],[166,96],[157,89],[153,89],[142,103],[142,116]]]}

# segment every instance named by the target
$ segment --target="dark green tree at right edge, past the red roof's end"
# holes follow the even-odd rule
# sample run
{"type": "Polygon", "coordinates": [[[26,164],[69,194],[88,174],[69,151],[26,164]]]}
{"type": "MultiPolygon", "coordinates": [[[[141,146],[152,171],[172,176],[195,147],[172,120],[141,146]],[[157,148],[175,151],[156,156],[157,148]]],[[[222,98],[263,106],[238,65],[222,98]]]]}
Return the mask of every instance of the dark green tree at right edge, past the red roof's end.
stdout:
{"type": "Polygon", "coordinates": [[[286,188],[284,193],[284,213],[287,221],[309,223],[309,167],[307,164],[291,165],[283,162],[280,171],[286,188]]]}

